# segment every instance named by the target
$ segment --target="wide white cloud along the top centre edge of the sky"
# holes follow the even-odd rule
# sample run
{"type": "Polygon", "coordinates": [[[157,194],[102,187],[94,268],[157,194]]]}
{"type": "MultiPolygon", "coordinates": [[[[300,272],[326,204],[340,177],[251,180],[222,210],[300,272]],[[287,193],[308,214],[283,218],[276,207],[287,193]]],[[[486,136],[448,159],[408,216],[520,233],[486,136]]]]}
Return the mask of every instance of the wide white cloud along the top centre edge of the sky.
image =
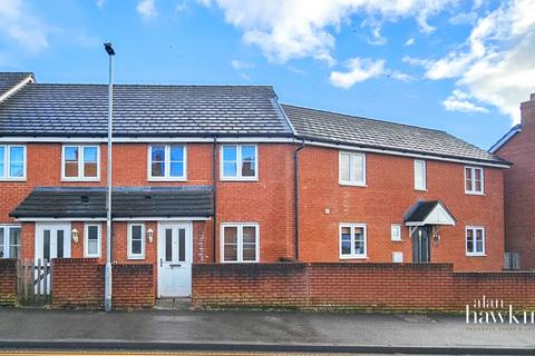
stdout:
{"type": "Polygon", "coordinates": [[[257,46],[275,62],[311,57],[333,66],[333,32],[352,14],[361,14],[371,27],[371,42],[385,43],[380,23],[415,18],[420,30],[434,30],[428,19],[456,0],[197,0],[217,4],[225,20],[243,30],[245,43],[257,46]],[[380,20],[376,21],[374,18],[380,20]]]}

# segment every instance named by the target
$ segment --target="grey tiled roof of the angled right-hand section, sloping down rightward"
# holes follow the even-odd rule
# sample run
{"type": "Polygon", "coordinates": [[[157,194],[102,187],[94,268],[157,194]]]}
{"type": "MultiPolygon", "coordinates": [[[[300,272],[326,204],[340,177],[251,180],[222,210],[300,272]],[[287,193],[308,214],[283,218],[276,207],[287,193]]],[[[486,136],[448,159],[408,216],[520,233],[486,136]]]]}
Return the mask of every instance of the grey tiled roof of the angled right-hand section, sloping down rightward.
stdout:
{"type": "Polygon", "coordinates": [[[296,135],[318,141],[507,164],[445,131],[282,105],[296,135]]]}

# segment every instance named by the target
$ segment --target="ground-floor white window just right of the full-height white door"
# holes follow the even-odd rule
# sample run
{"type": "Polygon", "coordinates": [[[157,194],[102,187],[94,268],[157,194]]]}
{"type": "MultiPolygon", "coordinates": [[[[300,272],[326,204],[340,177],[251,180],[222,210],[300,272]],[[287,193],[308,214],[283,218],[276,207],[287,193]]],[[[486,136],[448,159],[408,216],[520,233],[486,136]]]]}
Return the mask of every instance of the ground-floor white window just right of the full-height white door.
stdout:
{"type": "Polygon", "coordinates": [[[257,263],[260,260],[260,225],[256,222],[222,224],[221,259],[223,263],[257,263]]]}

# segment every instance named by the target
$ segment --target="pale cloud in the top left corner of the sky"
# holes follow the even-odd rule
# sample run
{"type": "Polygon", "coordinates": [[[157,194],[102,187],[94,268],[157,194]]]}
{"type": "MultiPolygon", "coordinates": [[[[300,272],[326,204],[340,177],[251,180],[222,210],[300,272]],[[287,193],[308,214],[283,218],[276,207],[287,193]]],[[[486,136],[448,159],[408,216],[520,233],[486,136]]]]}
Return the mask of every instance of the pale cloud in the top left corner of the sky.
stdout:
{"type": "Polygon", "coordinates": [[[22,0],[0,0],[0,36],[30,52],[48,47],[48,27],[32,14],[22,0]]]}

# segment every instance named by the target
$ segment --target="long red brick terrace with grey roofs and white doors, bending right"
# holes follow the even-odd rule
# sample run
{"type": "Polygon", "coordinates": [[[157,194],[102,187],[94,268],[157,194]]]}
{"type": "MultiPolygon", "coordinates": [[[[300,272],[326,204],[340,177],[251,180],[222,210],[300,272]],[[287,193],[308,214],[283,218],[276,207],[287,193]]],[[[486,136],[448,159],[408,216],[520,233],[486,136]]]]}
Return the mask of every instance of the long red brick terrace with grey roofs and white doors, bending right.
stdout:
{"type": "MultiPolygon", "coordinates": [[[[106,86],[0,80],[2,257],[103,259],[106,86]]],[[[192,263],[503,268],[509,164],[444,131],[261,86],[119,85],[114,100],[113,260],[154,264],[158,296],[189,295],[192,263]]]]}

